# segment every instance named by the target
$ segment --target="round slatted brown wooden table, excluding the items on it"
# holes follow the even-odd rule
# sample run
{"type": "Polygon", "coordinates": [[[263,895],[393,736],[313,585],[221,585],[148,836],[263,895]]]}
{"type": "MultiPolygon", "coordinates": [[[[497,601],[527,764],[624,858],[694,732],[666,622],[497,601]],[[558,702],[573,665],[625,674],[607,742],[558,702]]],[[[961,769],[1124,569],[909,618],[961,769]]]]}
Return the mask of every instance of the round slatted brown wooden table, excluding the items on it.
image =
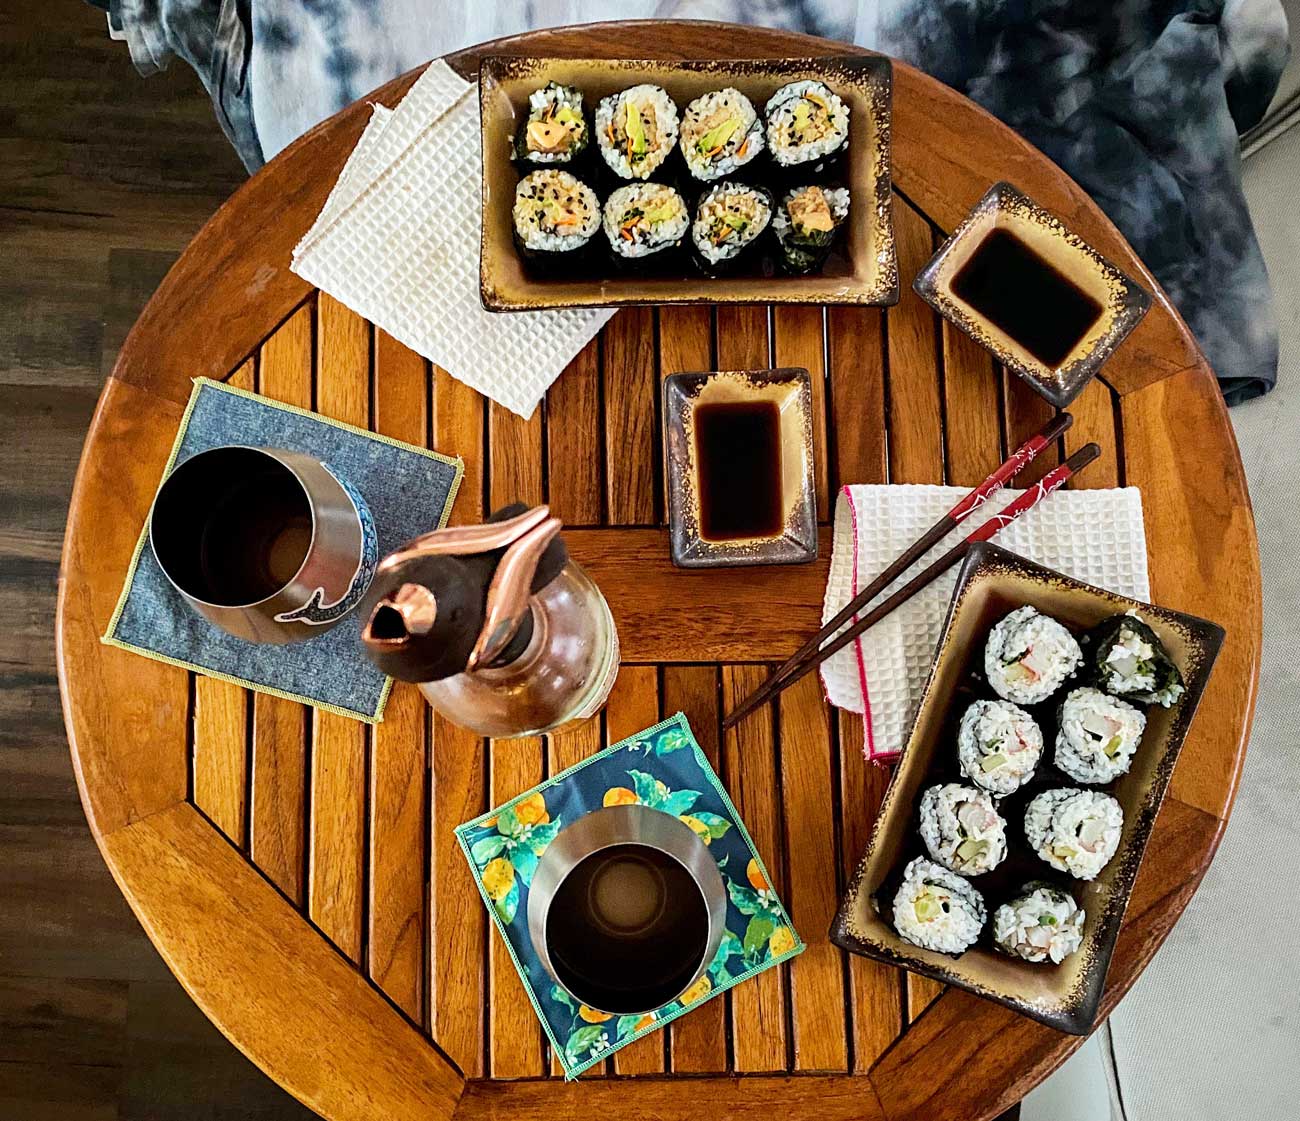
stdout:
{"type": "MultiPolygon", "coordinates": [[[[472,77],[490,51],[850,49],[754,27],[615,23],[450,61],[472,77]]],[[[394,104],[413,78],[367,100],[394,104]]],[[[1008,1108],[1079,1040],[827,942],[888,779],[863,762],[858,718],[828,709],[809,676],[767,719],[719,735],[719,713],[818,626],[829,533],[811,566],[673,570],[659,380],[811,369],[824,525],[841,482],[968,485],[1043,423],[1043,402],[910,290],[991,182],[1011,179],[1157,293],[1072,407],[1063,450],[1089,440],[1104,449],[1080,485],[1141,488],[1156,601],[1228,635],[1138,878],[1105,1013],[1214,853],[1254,702],[1254,525],[1227,415],[1187,328],[1060,169],[896,64],[897,307],[624,310],[545,408],[520,420],[289,272],[368,116],[358,103],[313,129],[208,222],[127,338],[86,441],[60,581],[60,679],[86,814],[150,938],[221,1030],[330,1121],[975,1121],[1008,1108]],[[625,665],[607,711],[564,735],[484,743],[400,685],[385,722],[368,730],[100,645],[198,375],[462,454],[460,520],[514,499],[550,502],[618,619],[625,665]],[[809,949],[564,1085],[451,831],[677,709],[712,754],[809,949]],[[734,1077],[742,1072],[754,1077],[734,1077]]]]}

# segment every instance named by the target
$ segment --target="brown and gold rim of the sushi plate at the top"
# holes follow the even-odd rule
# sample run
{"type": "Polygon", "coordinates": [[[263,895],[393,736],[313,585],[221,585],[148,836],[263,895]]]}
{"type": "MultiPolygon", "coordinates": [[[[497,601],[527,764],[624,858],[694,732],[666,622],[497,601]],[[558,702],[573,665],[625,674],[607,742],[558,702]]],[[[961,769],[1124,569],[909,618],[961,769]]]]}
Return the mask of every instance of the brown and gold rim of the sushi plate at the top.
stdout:
{"type": "MultiPolygon", "coordinates": [[[[649,81],[646,73],[624,79],[625,83],[649,81]]],[[[489,311],[542,311],[567,307],[625,307],[634,304],[859,304],[887,307],[898,302],[898,257],[893,235],[890,116],[893,65],[884,55],[832,55],[805,59],[698,59],[666,61],[662,59],[541,59],[514,55],[485,57],[478,68],[478,108],[482,161],[482,222],[480,226],[480,297],[489,311]],[[502,282],[503,250],[493,244],[489,222],[493,169],[486,159],[490,146],[504,143],[514,135],[514,117],[507,122],[495,112],[491,92],[503,82],[528,81],[545,85],[556,68],[575,65],[590,68],[594,74],[618,75],[623,72],[649,72],[676,101],[673,75],[703,74],[715,85],[729,85],[741,78],[759,78],[775,90],[801,78],[819,78],[836,87],[852,87],[867,107],[871,120],[870,151],[862,144],[849,150],[850,170],[846,186],[852,191],[850,222],[870,222],[862,252],[852,254],[853,274],[844,277],[775,276],[775,277],[706,277],[684,272],[671,281],[649,284],[637,277],[627,280],[575,280],[564,285],[530,281],[502,282]],[[866,200],[863,200],[866,195],[866,200]],[[866,218],[863,218],[866,215],[866,218]],[[859,259],[861,256],[861,259],[859,259]]],[[[593,142],[594,143],[594,142],[593,142]]],[[[744,181],[744,174],[734,178],[744,181]]],[[[760,186],[768,186],[759,182],[760,186]]],[[[514,190],[514,181],[511,181],[514,190]]],[[[772,189],[774,196],[780,187],[772,189]]],[[[601,237],[597,230],[595,237],[601,237]]],[[[689,237],[689,230],[688,234],[689,237]]],[[[506,250],[514,254],[514,247],[506,250]]]]}

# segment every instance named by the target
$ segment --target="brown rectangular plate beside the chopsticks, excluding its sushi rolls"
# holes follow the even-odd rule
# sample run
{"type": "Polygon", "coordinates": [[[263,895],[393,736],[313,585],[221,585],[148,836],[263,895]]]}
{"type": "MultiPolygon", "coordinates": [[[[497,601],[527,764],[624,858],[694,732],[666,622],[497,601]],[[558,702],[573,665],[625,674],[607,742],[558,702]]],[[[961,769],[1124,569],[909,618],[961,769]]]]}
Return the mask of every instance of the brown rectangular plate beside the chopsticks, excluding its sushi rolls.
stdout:
{"type": "MultiPolygon", "coordinates": [[[[971,549],[953,592],[907,746],[831,929],[831,940],[854,953],[956,984],[1061,1031],[1091,1031],[1143,851],[1222,640],[1222,628],[1204,619],[1115,596],[993,545],[971,549]],[[1026,603],[1075,633],[1108,616],[1136,610],[1178,665],[1187,687],[1173,707],[1148,709],[1147,730],[1128,774],[1097,787],[1123,808],[1123,834],[1115,856],[1095,880],[1070,882],[1087,921],[1082,945],[1060,965],[1022,961],[992,948],[988,931],[993,910],[1005,900],[984,882],[1000,870],[972,880],[985,892],[989,921],[980,939],[957,957],[905,942],[890,922],[892,888],[901,862],[916,854],[916,805],[924,788],[946,772],[948,757],[956,757],[954,727],[971,700],[970,684],[982,668],[984,640],[998,619],[1026,603]]],[[[1052,750],[1049,741],[1044,762],[1052,750]]],[[[1070,780],[1060,784],[1078,785],[1070,780]]],[[[1062,879],[1028,852],[1022,819],[1010,811],[1008,840],[1008,862],[1017,858],[1019,849],[1019,860],[1036,864],[1044,879],[1062,879]]]]}

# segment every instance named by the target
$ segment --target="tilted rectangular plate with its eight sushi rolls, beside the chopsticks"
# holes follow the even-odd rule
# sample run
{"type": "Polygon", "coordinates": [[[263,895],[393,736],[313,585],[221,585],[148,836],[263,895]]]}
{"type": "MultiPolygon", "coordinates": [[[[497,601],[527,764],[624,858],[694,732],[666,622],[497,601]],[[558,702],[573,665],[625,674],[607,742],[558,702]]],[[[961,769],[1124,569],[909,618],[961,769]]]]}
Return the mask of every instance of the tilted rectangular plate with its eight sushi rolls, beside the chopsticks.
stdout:
{"type": "MultiPolygon", "coordinates": [[[[1093,588],[993,545],[974,546],[962,564],[902,761],[831,940],[853,953],[956,984],[1060,1031],[1091,1031],[1143,851],[1222,641],[1223,629],[1214,623],[1093,588]],[[1009,629],[1026,626],[1023,616],[1000,627],[1010,613],[1027,606],[1039,613],[1032,624],[1037,629],[1009,629]],[[988,665],[1001,667],[997,692],[985,675],[985,646],[994,631],[998,657],[988,665]],[[1063,641],[1056,649],[1070,653],[1056,662],[1056,670],[1049,632],[1063,641]],[[1071,641],[1082,648],[1079,665],[1071,641]],[[1019,650],[1017,642],[1027,645],[1027,652],[1006,663],[1008,650],[1019,650]],[[1022,663],[1034,661],[1034,649],[1040,658],[1030,672],[1022,663]],[[1180,691],[1170,685],[1176,681],[1170,663],[1182,679],[1180,691]],[[1069,666],[1075,670],[1062,680],[1069,666]],[[976,702],[976,713],[987,711],[988,702],[1005,711],[1008,692],[1020,698],[1011,701],[1020,713],[1019,723],[1004,735],[1014,733],[1023,749],[1034,739],[1023,720],[1041,731],[1041,757],[1027,778],[1027,766],[1018,774],[1004,772],[1008,757],[1001,752],[1010,739],[998,740],[994,733],[985,744],[989,726],[963,720],[976,702]],[[1067,696],[1074,714],[1084,702],[1091,706],[1078,723],[1062,715],[1060,706],[1067,696]],[[1084,735],[1080,726],[1091,735],[1101,727],[1093,726],[1097,714],[1122,715],[1124,705],[1141,711],[1145,724],[1131,723],[1124,741],[1118,735],[1102,739],[1110,735],[1109,724],[1097,732],[1096,758],[1087,763],[1093,772],[1080,770],[1082,756],[1058,757],[1062,724],[1070,736],[1084,735]],[[968,788],[965,800],[950,806],[961,828],[944,824],[940,798],[926,798],[927,791],[950,783],[968,788]],[[1083,792],[1084,798],[1066,805],[1058,795],[1049,795],[1061,789],[1083,792]],[[987,817],[975,821],[974,814],[962,817],[966,806],[985,800],[1004,822],[1001,858],[996,823],[987,817]],[[980,849],[983,840],[967,836],[970,828],[988,831],[992,854],[980,849]],[[972,844],[974,851],[966,851],[972,844]],[[1049,853],[1053,862],[1040,853],[1049,853]],[[939,857],[942,861],[928,866],[913,864],[939,857]],[[909,865],[910,878],[905,875],[909,865]],[[965,874],[958,875],[954,865],[965,874]],[[1045,896],[1037,895],[1040,887],[1045,896]],[[1004,904],[1008,910],[998,914],[1004,904]],[[901,935],[904,927],[910,939],[901,935]],[[1015,953],[994,945],[994,931],[1015,953]],[[923,947],[922,940],[952,952],[923,947]],[[958,944],[966,948],[957,949],[958,944]]],[[[1024,759],[1032,763],[1032,753],[1024,759]]]]}

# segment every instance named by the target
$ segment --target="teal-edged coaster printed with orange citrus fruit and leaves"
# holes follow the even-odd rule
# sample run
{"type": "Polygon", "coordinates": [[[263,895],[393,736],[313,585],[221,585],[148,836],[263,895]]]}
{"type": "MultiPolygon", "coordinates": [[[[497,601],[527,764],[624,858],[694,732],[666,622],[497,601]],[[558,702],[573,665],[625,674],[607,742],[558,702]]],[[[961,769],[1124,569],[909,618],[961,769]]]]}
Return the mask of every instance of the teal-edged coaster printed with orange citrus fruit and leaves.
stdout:
{"type": "Polygon", "coordinates": [[[566,1078],[803,951],[745,823],[681,713],[467,822],[456,837],[566,1078]],[[718,860],[729,903],[727,931],[703,978],[647,1016],[612,1017],[575,1004],[534,953],[528,884],[538,857],[566,824],[604,805],[630,804],[680,817],[699,834],[718,860]]]}

